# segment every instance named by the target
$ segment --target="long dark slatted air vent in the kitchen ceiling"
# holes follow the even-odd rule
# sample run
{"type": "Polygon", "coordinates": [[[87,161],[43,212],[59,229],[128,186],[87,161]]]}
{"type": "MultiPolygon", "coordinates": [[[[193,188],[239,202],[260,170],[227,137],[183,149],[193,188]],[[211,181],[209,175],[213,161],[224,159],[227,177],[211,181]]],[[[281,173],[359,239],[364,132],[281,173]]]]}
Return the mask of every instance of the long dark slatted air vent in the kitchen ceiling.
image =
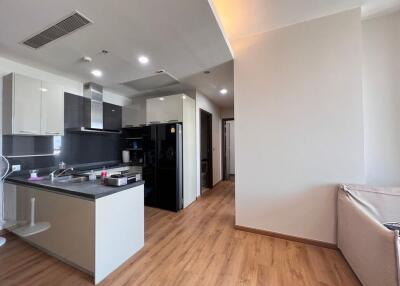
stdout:
{"type": "Polygon", "coordinates": [[[74,13],[72,13],[72,15],[63,18],[55,25],[47,28],[39,34],[30,37],[22,43],[31,48],[38,49],[91,23],[93,22],[84,17],[79,12],[75,11],[74,13]]]}

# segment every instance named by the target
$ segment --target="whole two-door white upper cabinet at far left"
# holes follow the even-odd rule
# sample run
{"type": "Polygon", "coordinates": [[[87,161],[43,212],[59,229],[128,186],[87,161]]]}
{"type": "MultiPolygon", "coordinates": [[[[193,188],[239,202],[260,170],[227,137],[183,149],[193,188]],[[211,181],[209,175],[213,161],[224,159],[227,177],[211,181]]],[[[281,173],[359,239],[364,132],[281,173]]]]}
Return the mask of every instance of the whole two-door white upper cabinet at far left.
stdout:
{"type": "Polygon", "coordinates": [[[3,134],[63,135],[62,87],[16,73],[4,76],[3,134]]]}

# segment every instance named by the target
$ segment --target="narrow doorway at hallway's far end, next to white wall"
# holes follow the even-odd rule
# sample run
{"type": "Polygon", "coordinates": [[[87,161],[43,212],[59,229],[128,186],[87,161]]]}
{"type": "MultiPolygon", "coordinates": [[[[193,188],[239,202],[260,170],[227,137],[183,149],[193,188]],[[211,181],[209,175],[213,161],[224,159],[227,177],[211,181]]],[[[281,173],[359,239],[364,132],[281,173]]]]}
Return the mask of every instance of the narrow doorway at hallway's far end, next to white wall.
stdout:
{"type": "Polygon", "coordinates": [[[222,170],[226,181],[235,179],[235,120],[222,119],[222,170]]]}

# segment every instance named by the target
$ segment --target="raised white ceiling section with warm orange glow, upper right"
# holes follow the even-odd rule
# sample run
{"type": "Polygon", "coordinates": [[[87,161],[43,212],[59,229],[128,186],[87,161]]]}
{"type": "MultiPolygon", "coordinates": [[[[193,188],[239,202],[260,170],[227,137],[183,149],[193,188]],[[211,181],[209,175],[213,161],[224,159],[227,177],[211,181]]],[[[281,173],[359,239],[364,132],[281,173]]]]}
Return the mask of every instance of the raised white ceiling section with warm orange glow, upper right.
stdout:
{"type": "Polygon", "coordinates": [[[213,0],[230,41],[307,20],[363,7],[372,16],[400,0],[213,0]]]}

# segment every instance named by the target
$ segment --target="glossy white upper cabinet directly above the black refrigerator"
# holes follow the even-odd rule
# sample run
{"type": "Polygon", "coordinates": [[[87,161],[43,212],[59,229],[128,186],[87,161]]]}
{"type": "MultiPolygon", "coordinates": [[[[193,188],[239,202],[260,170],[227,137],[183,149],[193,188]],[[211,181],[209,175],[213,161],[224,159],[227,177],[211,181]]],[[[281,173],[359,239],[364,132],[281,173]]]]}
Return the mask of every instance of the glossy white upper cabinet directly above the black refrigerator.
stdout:
{"type": "Polygon", "coordinates": [[[183,94],[156,97],[146,100],[146,122],[182,122],[183,94]]]}

